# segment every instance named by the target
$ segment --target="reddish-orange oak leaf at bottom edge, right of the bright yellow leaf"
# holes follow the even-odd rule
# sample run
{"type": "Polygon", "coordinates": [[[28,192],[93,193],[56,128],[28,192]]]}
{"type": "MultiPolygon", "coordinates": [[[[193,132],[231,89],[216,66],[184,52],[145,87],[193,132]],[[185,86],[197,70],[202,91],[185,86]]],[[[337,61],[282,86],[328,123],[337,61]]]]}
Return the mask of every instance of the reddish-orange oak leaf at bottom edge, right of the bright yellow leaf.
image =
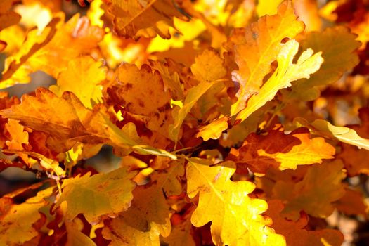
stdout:
{"type": "Polygon", "coordinates": [[[306,214],[302,214],[297,221],[290,221],[280,214],[283,211],[283,203],[280,200],[269,200],[268,205],[268,211],[265,214],[273,220],[271,227],[276,230],[276,233],[285,236],[287,245],[342,245],[344,235],[340,231],[332,229],[308,231],[306,226],[309,217],[306,214]]]}

